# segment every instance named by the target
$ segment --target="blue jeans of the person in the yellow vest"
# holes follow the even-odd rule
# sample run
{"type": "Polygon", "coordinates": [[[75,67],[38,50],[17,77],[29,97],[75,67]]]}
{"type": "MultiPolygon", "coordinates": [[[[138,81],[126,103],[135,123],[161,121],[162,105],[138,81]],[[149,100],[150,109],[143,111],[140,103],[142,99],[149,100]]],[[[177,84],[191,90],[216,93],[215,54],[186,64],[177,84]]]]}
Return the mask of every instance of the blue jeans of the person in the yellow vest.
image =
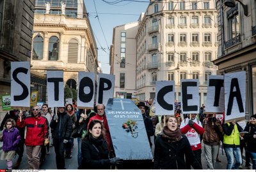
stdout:
{"type": "Polygon", "coordinates": [[[242,164],[242,156],[241,156],[241,150],[239,147],[237,148],[224,148],[225,153],[227,155],[227,169],[238,169],[239,166],[242,164]],[[234,163],[234,160],[236,160],[236,163],[234,163]]]}

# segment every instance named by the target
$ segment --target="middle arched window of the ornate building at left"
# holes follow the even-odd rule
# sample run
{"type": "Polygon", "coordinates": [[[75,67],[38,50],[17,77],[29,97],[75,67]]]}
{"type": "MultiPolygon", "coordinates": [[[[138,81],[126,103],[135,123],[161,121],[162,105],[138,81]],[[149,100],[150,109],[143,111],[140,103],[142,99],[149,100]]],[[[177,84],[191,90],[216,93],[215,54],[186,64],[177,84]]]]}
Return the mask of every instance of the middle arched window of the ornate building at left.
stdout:
{"type": "Polygon", "coordinates": [[[58,61],[59,59],[59,38],[52,36],[49,39],[49,61],[58,61]]]}

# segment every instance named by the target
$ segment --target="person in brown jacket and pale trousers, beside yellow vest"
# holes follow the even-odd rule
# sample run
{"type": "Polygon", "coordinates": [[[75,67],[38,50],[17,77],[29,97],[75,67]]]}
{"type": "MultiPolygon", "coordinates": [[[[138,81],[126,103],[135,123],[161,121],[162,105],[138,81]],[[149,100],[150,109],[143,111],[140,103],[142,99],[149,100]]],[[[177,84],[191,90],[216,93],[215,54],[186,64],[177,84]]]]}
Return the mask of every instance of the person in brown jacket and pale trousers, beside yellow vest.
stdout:
{"type": "Polygon", "coordinates": [[[219,152],[220,136],[223,132],[220,121],[208,113],[203,121],[205,133],[203,135],[204,151],[208,169],[214,169],[216,157],[219,152]]]}

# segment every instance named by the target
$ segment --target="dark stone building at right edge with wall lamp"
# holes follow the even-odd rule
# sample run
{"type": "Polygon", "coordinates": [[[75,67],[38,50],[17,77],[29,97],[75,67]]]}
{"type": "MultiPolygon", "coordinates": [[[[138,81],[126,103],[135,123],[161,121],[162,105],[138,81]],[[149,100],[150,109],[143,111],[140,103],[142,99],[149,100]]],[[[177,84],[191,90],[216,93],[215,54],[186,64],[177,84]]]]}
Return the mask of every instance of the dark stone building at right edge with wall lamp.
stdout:
{"type": "Polygon", "coordinates": [[[218,73],[246,71],[246,118],[256,113],[256,1],[216,1],[218,73]]]}

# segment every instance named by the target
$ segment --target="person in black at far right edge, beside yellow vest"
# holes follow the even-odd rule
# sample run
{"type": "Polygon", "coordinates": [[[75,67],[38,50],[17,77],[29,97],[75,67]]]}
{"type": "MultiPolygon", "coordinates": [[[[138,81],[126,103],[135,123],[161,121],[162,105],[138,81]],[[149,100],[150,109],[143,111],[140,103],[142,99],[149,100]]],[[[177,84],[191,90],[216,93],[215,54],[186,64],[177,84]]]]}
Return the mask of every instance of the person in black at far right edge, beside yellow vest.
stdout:
{"type": "Polygon", "coordinates": [[[252,169],[256,169],[256,114],[250,117],[250,122],[244,128],[244,140],[247,141],[247,151],[252,159],[252,169]]]}

